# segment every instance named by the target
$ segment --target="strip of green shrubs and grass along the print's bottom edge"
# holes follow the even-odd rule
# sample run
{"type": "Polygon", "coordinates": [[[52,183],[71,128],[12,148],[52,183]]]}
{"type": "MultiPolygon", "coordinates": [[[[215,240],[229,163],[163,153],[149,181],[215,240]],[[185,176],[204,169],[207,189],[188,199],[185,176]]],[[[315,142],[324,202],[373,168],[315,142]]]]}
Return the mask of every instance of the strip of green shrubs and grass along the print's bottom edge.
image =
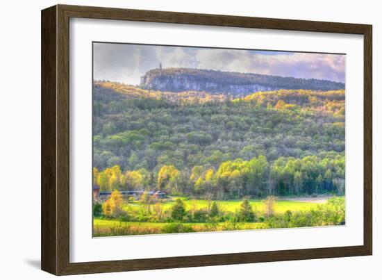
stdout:
{"type": "MultiPolygon", "coordinates": [[[[283,202],[285,201],[280,201],[279,204],[283,202]]],[[[105,217],[94,217],[94,236],[322,227],[342,225],[345,222],[343,197],[333,197],[324,204],[311,203],[310,208],[298,208],[298,210],[294,211],[275,211],[274,215],[269,217],[264,216],[264,208],[260,212],[256,211],[256,213],[260,213],[258,222],[240,220],[239,213],[235,215],[230,211],[222,212],[220,217],[210,217],[206,208],[196,209],[193,213],[191,213],[192,211],[186,211],[182,221],[173,222],[172,219],[166,220],[167,211],[163,209],[163,206],[156,204],[153,208],[155,209],[153,210],[154,215],[140,216],[140,213],[135,212],[133,207],[129,206],[126,213],[122,213],[114,220],[105,217]]],[[[244,209],[244,213],[248,213],[249,204],[243,201],[240,211],[242,209],[244,209]]]]}

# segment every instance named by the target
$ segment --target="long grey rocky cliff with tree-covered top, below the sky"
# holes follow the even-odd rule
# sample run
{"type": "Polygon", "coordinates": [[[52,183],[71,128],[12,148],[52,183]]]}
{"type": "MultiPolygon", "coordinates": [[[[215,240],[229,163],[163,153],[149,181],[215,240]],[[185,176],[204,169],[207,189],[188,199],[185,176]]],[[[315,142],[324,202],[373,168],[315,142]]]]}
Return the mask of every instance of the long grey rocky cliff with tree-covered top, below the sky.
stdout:
{"type": "Polygon", "coordinates": [[[167,68],[152,69],[144,74],[141,77],[140,88],[170,92],[196,90],[236,95],[281,88],[340,90],[344,89],[344,84],[317,79],[296,79],[204,69],[167,68]]]}

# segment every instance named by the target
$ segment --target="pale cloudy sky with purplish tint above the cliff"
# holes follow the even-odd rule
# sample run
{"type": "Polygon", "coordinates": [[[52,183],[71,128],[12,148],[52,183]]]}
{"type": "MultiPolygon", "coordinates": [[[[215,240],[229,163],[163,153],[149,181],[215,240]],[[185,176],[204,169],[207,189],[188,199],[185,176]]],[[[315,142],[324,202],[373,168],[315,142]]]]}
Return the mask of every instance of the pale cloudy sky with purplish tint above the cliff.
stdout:
{"type": "Polygon", "coordinates": [[[344,82],[345,56],[197,47],[94,43],[94,80],[137,85],[149,69],[215,69],[344,82]]]}

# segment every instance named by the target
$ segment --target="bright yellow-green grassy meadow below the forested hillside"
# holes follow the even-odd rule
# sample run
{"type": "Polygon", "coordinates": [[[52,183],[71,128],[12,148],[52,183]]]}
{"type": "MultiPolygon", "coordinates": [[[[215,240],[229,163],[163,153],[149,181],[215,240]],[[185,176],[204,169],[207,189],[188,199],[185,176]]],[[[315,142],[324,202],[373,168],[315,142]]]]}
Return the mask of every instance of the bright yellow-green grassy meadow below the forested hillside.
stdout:
{"type": "MultiPolygon", "coordinates": [[[[254,213],[250,220],[237,218],[243,209],[243,201],[241,200],[208,201],[206,199],[170,197],[159,202],[156,201],[155,204],[144,204],[144,201],[124,201],[122,204],[124,215],[120,215],[119,218],[96,217],[94,215],[93,236],[305,227],[311,226],[311,224],[304,224],[304,222],[301,224],[301,217],[308,217],[308,220],[313,220],[312,217],[317,213],[318,215],[326,215],[326,217],[331,216],[331,222],[328,224],[339,224],[339,221],[342,222],[344,219],[344,205],[338,204],[338,201],[344,201],[344,197],[320,197],[317,199],[307,197],[296,200],[279,198],[274,200],[271,206],[267,204],[267,199],[248,199],[249,211],[254,213]],[[182,201],[183,217],[174,220],[171,217],[172,213],[177,211],[178,201],[182,201]],[[213,203],[217,205],[219,212],[217,215],[212,214],[213,203]],[[329,204],[332,205],[329,206],[329,204]],[[267,213],[269,207],[272,208],[270,215],[267,213]],[[199,217],[198,221],[197,214],[203,215],[204,213],[206,213],[206,217],[199,217]],[[341,213],[343,213],[343,217],[341,213]],[[285,224],[285,220],[288,219],[300,221],[285,224]],[[333,219],[337,222],[333,222],[333,219]]],[[[322,217],[319,218],[319,221],[322,221],[322,217]]],[[[321,224],[313,225],[319,226],[321,224]]]]}

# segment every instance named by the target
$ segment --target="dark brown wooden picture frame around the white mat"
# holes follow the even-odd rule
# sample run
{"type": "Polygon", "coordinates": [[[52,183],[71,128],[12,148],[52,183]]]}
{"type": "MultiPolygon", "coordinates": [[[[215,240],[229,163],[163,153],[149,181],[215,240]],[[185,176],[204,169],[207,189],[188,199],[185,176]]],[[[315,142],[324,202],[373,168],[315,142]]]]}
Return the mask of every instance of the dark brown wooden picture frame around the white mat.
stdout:
{"type": "Polygon", "coordinates": [[[229,265],[372,254],[372,26],[56,5],[42,10],[42,270],[56,275],[229,265]],[[364,227],[362,246],[69,262],[69,18],[265,28],[364,36],[364,227]]]}

